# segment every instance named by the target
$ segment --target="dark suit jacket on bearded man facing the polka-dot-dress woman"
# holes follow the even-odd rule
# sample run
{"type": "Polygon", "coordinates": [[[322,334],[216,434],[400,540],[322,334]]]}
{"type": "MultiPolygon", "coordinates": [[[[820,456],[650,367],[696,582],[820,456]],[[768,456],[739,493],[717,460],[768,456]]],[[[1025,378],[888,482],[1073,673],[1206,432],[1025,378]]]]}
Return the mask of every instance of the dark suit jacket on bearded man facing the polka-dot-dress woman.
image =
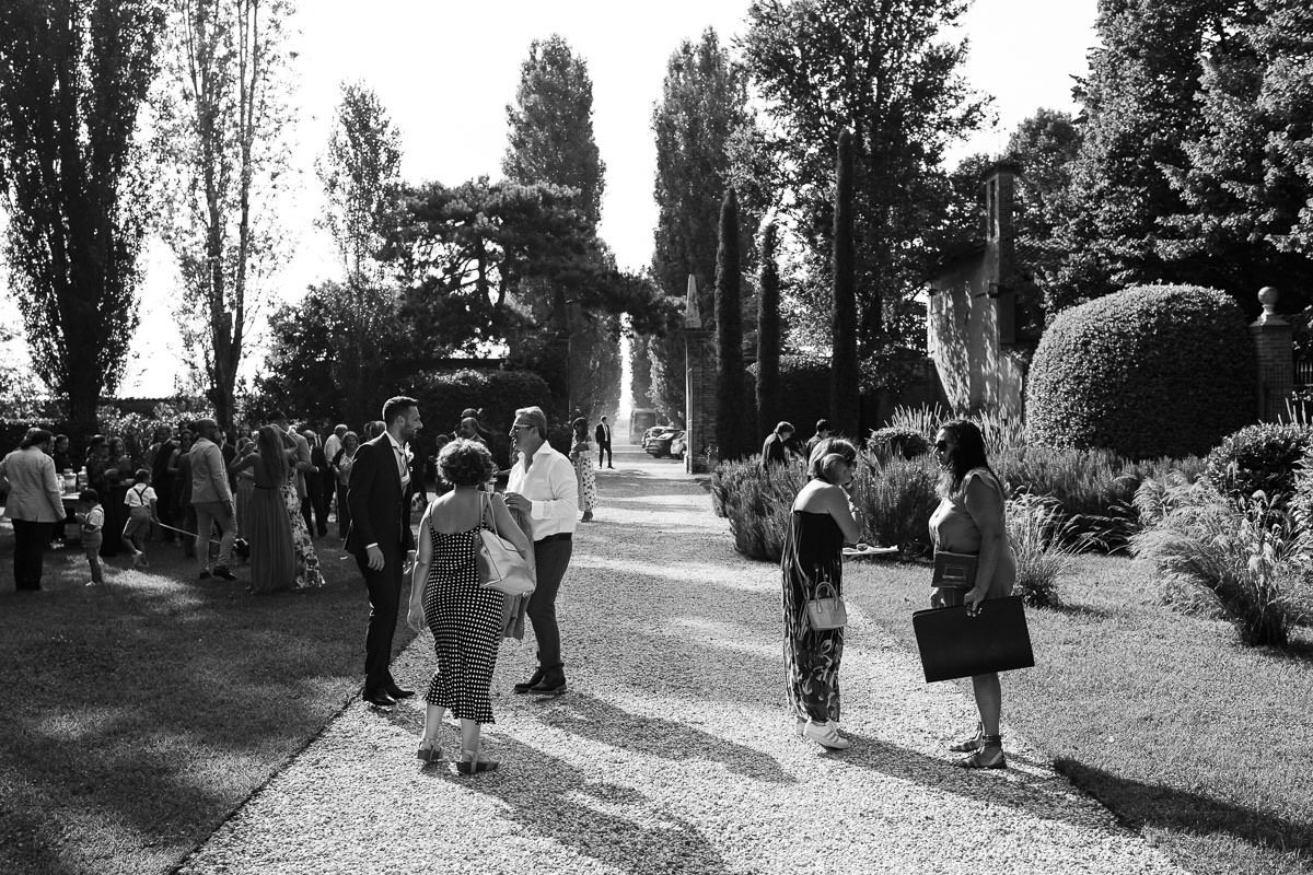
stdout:
{"type": "Polygon", "coordinates": [[[385,552],[389,546],[402,551],[415,548],[410,500],[407,489],[402,488],[397,453],[386,432],[356,450],[347,481],[347,506],[351,509],[351,529],[347,531],[347,550],[351,552],[364,556],[365,548],[374,543],[385,552]]]}

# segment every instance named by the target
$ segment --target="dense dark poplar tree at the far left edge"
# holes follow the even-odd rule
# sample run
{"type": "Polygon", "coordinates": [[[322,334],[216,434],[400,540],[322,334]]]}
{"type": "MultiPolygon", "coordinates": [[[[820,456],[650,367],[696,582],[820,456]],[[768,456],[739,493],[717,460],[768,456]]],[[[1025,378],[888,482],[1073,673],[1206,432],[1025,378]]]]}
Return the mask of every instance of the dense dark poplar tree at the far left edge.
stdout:
{"type": "Polygon", "coordinates": [[[137,328],[148,201],[134,136],[161,29],[144,0],[0,4],[9,286],[79,432],[95,430],[137,328]]]}

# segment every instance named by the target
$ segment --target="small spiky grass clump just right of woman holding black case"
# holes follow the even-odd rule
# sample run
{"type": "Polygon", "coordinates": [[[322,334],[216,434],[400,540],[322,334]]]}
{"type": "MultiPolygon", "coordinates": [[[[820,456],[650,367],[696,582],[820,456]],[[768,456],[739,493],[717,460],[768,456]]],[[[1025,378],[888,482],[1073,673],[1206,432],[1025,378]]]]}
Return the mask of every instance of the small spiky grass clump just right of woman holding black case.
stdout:
{"type": "Polygon", "coordinates": [[[1081,535],[1050,496],[1022,492],[1007,501],[1007,540],[1016,558],[1016,592],[1027,605],[1058,603],[1058,581],[1079,552],[1081,535]]]}

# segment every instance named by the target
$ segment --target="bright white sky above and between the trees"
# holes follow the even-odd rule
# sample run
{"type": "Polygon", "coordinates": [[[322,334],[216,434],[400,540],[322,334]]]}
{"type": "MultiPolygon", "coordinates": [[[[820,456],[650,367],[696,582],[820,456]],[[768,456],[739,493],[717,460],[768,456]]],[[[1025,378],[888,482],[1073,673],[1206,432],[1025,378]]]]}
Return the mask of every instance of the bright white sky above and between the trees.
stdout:
{"type": "MultiPolygon", "coordinates": [[[[312,220],[314,159],[327,140],[339,81],[361,80],[378,93],[400,127],[407,180],[496,178],[520,64],[529,42],[551,33],[583,55],[593,81],[595,135],[607,164],[601,236],[622,266],[646,265],[656,216],[650,118],[666,60],[708,26],[729,43],[747,7],[747,0],[301,0],[294,157],[301,194],[282,210],[297,254],[278,278],[278,294],[294,299],[335,275],[332,252],[312,220]]],[[[1006,132],[1040,106],[1073,108],[1070,77],[1086,70],[1095,13],[1096,0],[976,0],[964,21],[972,42],[966,75],[995,97],[999,126],[962,144],[953,160],[999,151],[1006,132]]],[[[168,251],[151,247],[140,340],[122,396],[173,388],[183,354],[169,315],[176,282],[168,251]]],[[[252,363],[263,358],[256,350],[252,363]]]]}

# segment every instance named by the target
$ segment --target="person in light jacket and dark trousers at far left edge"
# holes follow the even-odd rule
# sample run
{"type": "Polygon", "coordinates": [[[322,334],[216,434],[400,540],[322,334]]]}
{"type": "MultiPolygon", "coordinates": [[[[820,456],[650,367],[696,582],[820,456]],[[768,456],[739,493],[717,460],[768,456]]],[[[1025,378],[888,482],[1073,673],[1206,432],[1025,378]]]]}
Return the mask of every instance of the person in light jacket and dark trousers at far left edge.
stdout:
{"type": "Polygon", "coordinates": [[[67,516],[50,457],[54,441],[46,429],[28,429],[18,449],[0,460],[0,480],[9,484],[5,516],[13,521],[13,581],[20,590],[41,589],[41,554],[67,516]]]}

